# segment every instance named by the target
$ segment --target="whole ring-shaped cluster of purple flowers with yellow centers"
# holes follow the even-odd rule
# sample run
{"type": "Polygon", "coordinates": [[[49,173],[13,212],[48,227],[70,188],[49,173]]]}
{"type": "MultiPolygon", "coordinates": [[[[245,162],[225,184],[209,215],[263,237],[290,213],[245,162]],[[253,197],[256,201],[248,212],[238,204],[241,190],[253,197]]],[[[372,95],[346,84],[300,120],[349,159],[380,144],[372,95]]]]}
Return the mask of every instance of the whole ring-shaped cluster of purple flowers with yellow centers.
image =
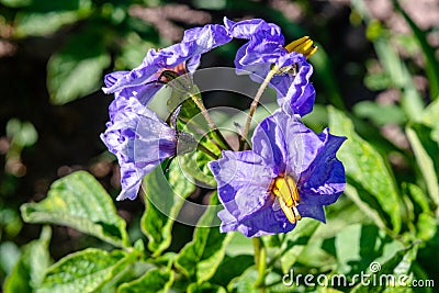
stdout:
{"type": "MultiPolygon", "coordinates": [[[[177,123],[165,123],[148,109],[155,93],[169,82],[168,72],[171,78],[194,72],[202,54],[243,38],[247,43],[236,53],[237,74],[249,74],[260,82],[259,95],[264,87],[273,88],[279,109],[257,125],[251,149],[244,143],[239,150],[224,149],[209,164],[224,205],[218,213],[221,230],[252,237],[290,232],[302,217],[325,222],[324,206],[337,201],[345,189],[345,169],[336,158],[345,137],[331,135],[327,128],[315,134],[300,121],[314,105],[313,67],[307,58],[317,48],[308,37],[285,45],[280,27],[260,19],[225,19],[224,23],[189,30],[181,43],[150,49],[137,68],[105,77],[103,91],[114,93],[115,99],[101,137],[121,165],[117,199],[135,199],[143,177],[166,158],[195,151],[191,134],[179,131],[177,123]],[[177,151],[181,140],[183,150],[177,151]]],[[[202,101],[196,105],[209,115],[202,101]]],[[[173,116],[178,119],[178,112],[173,116]]],[[[206,121],[214,127],[209,116],[206,121]]],[[[245,129],[243,142],[246,135],[245,129]]]]}

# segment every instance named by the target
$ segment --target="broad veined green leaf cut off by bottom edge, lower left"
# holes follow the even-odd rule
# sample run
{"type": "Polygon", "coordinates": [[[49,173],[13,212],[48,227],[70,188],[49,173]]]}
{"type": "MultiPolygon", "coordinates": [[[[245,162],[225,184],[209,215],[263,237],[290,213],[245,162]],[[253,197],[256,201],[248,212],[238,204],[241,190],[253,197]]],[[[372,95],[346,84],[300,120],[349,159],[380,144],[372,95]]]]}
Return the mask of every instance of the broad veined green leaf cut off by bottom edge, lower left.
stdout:
{"type": "Polygon", "coordinates": [[[36,292],[95,292],[133,262],[133,256],[95,248],[71,253],[48,268],[36,292]]]}

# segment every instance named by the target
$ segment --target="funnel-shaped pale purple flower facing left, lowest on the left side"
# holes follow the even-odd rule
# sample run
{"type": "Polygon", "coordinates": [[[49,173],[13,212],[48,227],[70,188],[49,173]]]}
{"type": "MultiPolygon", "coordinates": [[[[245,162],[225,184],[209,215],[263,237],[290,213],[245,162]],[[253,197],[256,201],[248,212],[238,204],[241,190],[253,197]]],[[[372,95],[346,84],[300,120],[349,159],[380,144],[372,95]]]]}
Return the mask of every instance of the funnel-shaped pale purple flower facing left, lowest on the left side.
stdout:
{"type": "Polygon", "coordinates": [[[121,166],[122,191],[117,200],[134,200],[144,176],[164,159],[176,156],[177,147],[179,154],[191,151],[194,142],[184,139],[185,145],[178,144],[179,135],[191,136],[178,134],[135,97],[119,97],[119,102],[123,111],[113,113],[101,139],[121,166]]]}

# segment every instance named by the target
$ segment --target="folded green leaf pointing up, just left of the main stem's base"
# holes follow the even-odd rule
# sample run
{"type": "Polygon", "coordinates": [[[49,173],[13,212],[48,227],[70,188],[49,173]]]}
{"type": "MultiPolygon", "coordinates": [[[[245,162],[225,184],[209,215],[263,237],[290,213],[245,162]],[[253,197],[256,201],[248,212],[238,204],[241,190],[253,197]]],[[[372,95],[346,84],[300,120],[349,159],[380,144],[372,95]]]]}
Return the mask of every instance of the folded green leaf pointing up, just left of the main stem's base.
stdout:
{"type": "Polygon", "coordinates": [[[233,234],[219,233],[216,216],[218,205],[213,205],[214,203],[217,203],[216,193],[212,195],[211,205],[200,218],[192,241],[181,249],[175,263],[185,277],[195,279],[198,283],[212,278],[233,237],[233,234]]]}

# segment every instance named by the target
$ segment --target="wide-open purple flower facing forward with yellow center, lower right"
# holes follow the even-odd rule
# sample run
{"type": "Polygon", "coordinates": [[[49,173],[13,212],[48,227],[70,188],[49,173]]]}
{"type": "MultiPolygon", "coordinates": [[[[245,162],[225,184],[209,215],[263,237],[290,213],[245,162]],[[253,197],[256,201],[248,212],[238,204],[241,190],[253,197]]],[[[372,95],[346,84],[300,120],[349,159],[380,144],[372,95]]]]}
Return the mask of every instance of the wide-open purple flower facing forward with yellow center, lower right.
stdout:
{"type": "Polygon", "coordinates": [[[286,233],[302,217],[325,222],[323,206],[346,184],[336,153],[345,137],[316,135],[293,115],[277,111],[255,129],[252,150],[223,151],[210,164],[225,210],[221,230],[247,237],[286,233]]]}

